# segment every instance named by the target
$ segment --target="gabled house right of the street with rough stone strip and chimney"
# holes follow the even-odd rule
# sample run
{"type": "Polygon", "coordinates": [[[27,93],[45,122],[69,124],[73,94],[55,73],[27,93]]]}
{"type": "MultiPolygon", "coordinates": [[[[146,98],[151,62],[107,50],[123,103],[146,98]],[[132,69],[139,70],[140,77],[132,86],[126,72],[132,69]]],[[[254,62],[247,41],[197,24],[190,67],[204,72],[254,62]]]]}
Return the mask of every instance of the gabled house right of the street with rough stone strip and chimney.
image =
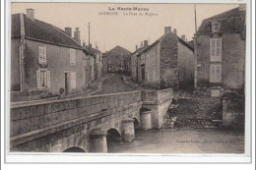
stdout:
{"type": "Polygon", "coordinates": [[[164,28],[164,34],[138,54],[138,82],[157,88],[192,88],[194,49],[164,28]]]}

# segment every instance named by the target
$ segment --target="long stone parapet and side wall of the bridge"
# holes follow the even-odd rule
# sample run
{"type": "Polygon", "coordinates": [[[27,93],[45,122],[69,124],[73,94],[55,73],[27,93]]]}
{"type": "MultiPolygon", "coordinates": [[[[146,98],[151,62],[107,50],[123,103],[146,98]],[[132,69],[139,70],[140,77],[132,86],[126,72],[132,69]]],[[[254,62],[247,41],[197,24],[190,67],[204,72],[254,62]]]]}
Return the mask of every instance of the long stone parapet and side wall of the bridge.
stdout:
{"type": "Polygon", "coordinates": [[[49,151],[96,129],[121,132],[122,120],[140,119],[141,105],[141,91],[12,105],[11,151],[49,151]]]}

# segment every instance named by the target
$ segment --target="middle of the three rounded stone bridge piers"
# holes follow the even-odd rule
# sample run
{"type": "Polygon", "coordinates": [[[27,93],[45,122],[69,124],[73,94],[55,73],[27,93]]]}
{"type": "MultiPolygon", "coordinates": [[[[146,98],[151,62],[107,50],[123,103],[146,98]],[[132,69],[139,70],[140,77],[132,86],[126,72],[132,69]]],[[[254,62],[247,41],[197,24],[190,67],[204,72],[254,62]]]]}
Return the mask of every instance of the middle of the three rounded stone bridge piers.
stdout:
{"type": "Polygon", "coordinates": [[[134,119],[128,118],[122,121],[123,142],[132,142],[135,139],[134,119]]]}

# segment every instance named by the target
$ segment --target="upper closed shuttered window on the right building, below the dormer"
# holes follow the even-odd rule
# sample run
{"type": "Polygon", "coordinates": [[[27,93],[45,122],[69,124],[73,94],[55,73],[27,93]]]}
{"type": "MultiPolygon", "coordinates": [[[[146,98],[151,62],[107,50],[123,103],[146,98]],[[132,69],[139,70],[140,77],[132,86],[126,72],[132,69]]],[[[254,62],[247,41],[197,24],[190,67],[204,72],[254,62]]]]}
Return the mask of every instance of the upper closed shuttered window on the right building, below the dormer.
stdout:
{"type": "Polygon", "coordinates": [[[211,38],[211,61],[222,61],[222,39],[211,38]]]}

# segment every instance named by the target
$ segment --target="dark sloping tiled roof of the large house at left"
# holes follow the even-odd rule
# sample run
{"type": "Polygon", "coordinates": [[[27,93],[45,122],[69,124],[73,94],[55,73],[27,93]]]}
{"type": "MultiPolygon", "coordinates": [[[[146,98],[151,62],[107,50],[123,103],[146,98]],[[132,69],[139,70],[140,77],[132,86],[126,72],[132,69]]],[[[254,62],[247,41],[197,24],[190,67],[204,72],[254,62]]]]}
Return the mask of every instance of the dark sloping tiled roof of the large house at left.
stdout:
{"type": "MultiPolygon", "coordinates": [[[[25,38],[83,49],[77,41],[67,35],[61,28],[54,27],[36,19],[32,21],[25,14],[22,15],[24,15],[25,38]]],[[[12,37],[20,36],[20,14],[14,14],[12,15],[12,37]]]]}

